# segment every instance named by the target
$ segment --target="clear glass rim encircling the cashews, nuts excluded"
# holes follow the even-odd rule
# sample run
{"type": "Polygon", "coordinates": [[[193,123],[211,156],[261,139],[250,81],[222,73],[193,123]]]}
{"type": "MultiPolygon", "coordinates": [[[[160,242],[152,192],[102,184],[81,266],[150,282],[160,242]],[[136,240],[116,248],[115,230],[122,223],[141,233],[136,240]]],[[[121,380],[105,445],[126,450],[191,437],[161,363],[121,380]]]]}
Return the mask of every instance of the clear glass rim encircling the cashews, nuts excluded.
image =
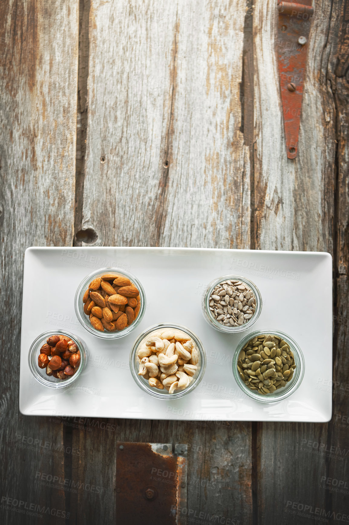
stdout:
{"type": "Polygon", "coordinates": [[[205,369],[206,369],[206,352],[205,352],[204,346],[203,346],[203,344],[201,342],[201,339],[198,337],[198,335],[195,334],[195,332],[192,332],[189,328],[185,327],[183,324],[157,323],[157,324],[154,324],[151,327],[147,328],[146,330],[144,330],[142,333],[140,333],[138,335],[137,339],[135,340],[135,342],[134,342],[134,344],[132,346],[130,354],[129,354],[129,368],[130,368],[130,372],[131,372],[131,374],[132,374],[132,376],[133,376],[133,378],[135,380],[135,383],[138,385],[139,388],[141,388],[141,390],[143,390],[147,394],[151,395],[152,397],[155,397],[156,399],[161,399],[161,400],[165,400],[165,401],[179,399],[180,397],[183,397],[184,395],[190,394],[190,392],[195,390],[195,388],[202,381],[202,378],[204,376],[205,369]],[[135,364],[136,350],[137,350],[137,347],[138,347],[140,341],[142,339],[144,339],[148,333],[153,332],[155,330],[162,329],[162,328],[163,329],[166,329],[166,328],[177,328],[179,330],[182,330],[183,332],[188,333],[190,335],[190,337],[194,339],[194,342],[198,346],[198,350],[199,350],[199,353],[200,353],[201,366],[200,366],[200,370],[199,370],[199,373],[198,373],[197,377],[195,378],[195,380],[192,381],[190,386],[188,386],[187,388],[184,388],[184,390],[178,391],[177,394],[176,393],[173,393],[173,394],[168,394],[168,393],[167,394],[162,394],[160,390],[157,392],[158,388],[154,388],[154,389],[151,390],[151,388],[148,387],[146,385],[146,383],[141,381],[141,379],[140,379],[140,377],[139,377],[139,375],[137,374],[137,371],[136,371],[136,364],[135,364]]]}

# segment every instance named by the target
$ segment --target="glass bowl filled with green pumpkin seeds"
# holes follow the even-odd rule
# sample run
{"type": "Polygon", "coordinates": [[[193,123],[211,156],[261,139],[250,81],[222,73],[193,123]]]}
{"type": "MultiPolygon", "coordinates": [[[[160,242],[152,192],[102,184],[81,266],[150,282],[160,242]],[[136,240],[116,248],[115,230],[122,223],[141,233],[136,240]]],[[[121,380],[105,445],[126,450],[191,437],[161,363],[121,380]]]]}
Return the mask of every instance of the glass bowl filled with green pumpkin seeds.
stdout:
{"type": "Polygon", "coordinates": [[[237,346],[233,374],[242,391],[254,400],[282,401],[301,384],[304,357],[286,333],[258,330],[246,335],[237,346]]]}

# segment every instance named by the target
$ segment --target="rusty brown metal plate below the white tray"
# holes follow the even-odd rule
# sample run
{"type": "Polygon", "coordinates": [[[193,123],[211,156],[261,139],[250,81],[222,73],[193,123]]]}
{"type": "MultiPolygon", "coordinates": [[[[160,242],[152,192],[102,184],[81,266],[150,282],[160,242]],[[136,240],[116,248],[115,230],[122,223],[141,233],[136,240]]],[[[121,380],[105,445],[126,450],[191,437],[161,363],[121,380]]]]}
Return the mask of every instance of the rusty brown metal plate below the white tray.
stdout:
{"type": "Polygon", "coordinates": [[[181,525],[186,506],[187,445],[117,443],[117,523],[181,525]]]}

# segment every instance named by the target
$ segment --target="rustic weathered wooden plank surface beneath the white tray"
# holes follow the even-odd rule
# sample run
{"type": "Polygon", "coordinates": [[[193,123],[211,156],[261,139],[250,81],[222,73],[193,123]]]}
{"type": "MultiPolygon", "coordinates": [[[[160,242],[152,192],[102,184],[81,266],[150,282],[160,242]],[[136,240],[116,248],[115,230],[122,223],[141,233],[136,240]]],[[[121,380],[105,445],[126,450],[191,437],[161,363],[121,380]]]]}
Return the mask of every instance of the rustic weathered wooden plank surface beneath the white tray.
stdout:
{"type": "MultiPolygon", "coordinates": [[[[63,511],[71,523],[118,523],[118,440],[187,443],[187,506],[205,523],[349,522],[349,2],[316,3],[294,161],[275,4],[0,5],[1,523],[61,523],[63,511]],[[329,251],[332,421],[89,426],[21,415],[24,251],[81,245],[329,251]],[[64,449],[42,454],[22,448],[24,437],[64,449]],[[38,472],[103,491],[40,485],[38,472]],[[30,517],[13,500],[61,513],[30,517]]],[[[300,300],[309,299],[304,290],[300,300]]]]}

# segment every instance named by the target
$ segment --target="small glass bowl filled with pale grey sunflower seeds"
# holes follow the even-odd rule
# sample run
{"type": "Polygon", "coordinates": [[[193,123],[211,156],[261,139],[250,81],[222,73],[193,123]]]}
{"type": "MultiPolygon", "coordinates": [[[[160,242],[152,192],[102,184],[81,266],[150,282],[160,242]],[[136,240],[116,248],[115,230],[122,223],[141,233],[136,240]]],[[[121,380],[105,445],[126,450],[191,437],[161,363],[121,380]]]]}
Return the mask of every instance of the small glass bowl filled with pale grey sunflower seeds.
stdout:
{"type": "Polygon", "coordinates": [[[205,320],[217,331],[237,333],[257,321],[262,299],[255,283],[239,275],[210,282],[202,299],[205,320]]]}

